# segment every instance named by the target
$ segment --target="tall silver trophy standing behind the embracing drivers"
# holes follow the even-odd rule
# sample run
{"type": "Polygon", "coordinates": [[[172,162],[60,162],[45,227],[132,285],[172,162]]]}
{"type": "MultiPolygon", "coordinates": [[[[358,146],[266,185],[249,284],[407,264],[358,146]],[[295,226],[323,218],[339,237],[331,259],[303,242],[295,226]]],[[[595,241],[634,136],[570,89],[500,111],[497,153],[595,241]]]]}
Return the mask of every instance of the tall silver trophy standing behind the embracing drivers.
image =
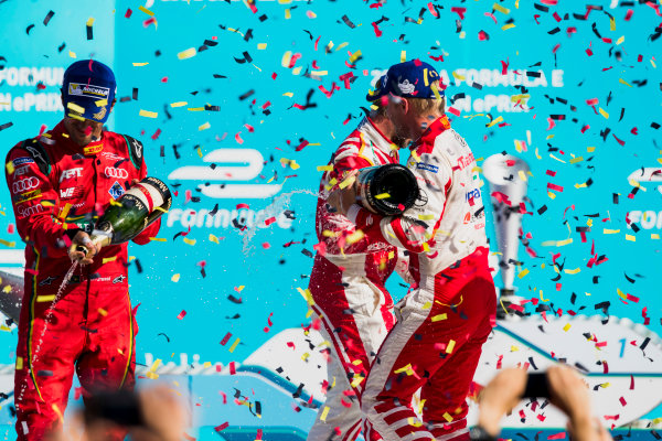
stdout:
{"type": "MultiPolygon", "coordinates": [[[[511,154],[492,154],[483,162],[483,175],[490,184],[492,195],[492,214],[496,229],[496,248],[501,252],[499,268],[503,286],[500,291],[500,301],[503,308],[517,303],[521,298],[515,295],[515,262],[520,246],[520,227],[522,213],[520,204],[526,196],[526,175],[528,165],[520,158],[511,154]],[[496,194],[500,193],[500,194],[496,194]]],[[[500,305],[496,306],[496,318],[503,319],[508,314],[500,305]]],[[[510,312],[510,311],[509,311],[510,312]]]]}

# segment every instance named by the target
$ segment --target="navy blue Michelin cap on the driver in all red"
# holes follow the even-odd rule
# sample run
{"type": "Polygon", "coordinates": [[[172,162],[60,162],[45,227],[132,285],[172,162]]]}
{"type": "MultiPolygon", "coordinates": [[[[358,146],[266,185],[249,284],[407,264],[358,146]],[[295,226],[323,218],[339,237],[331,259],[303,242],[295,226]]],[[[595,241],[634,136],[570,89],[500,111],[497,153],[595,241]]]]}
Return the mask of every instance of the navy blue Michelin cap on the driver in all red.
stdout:
{"type": "Polygon", "coordinates": [[[106,122],[117,84],[110,67],[94,60],[75,62],[64,72],[62,97],[70,117],[106,122]]]}

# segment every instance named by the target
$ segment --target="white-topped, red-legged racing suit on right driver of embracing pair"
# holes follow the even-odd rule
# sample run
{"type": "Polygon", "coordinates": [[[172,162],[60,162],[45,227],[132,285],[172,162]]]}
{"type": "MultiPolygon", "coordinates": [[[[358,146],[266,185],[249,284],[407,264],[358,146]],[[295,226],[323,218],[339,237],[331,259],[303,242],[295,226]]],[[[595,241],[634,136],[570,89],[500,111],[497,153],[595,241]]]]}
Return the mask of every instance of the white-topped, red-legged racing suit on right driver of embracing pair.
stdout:
{"type": "Polygon", "coordinates": [[[410,251],[417,288],[395,308],[397,323],[367,376],[366,434],[385,440],[468,439],[466,398],[494,324],[481,179],[467,142],[444,116],[415,143],[407,166],[419,201],[402,217],[353,205],[348,217],[369,238],[410,251]],[[420,423],[410,408],[421,388],[420,423]]]}

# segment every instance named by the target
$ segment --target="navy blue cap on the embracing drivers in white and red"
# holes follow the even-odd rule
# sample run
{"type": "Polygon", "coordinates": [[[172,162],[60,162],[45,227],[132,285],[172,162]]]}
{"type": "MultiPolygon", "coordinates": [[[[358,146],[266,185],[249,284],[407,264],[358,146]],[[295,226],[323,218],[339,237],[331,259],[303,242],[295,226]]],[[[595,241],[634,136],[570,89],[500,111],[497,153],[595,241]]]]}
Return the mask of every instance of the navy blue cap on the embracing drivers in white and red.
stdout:
{"type": "Polygon", "coordinates": [[[441,87],[437,87],[437,94],[430,87],[433,82],[438,79],[440,79],[439,73],[420,60],[394,64],[386,75],[377,80],[375,92],[369,93],[365,99],[375,101],[385,95],[433,99],[444,96],[441,87]]]}

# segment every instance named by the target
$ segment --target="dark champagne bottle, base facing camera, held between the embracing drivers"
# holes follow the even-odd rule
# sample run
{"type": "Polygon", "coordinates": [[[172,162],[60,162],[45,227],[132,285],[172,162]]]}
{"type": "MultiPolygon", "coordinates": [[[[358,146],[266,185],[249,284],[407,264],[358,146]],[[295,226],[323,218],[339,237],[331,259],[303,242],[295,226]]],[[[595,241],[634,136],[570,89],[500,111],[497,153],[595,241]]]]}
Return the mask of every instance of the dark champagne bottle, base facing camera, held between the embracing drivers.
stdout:
{"type": "Polygon", "coordinates": [[[361,169],[356,176],[356,201],[366,209],[384,216],[399,215],[418,197],[418,183],[401,164],[361,169]]]}

